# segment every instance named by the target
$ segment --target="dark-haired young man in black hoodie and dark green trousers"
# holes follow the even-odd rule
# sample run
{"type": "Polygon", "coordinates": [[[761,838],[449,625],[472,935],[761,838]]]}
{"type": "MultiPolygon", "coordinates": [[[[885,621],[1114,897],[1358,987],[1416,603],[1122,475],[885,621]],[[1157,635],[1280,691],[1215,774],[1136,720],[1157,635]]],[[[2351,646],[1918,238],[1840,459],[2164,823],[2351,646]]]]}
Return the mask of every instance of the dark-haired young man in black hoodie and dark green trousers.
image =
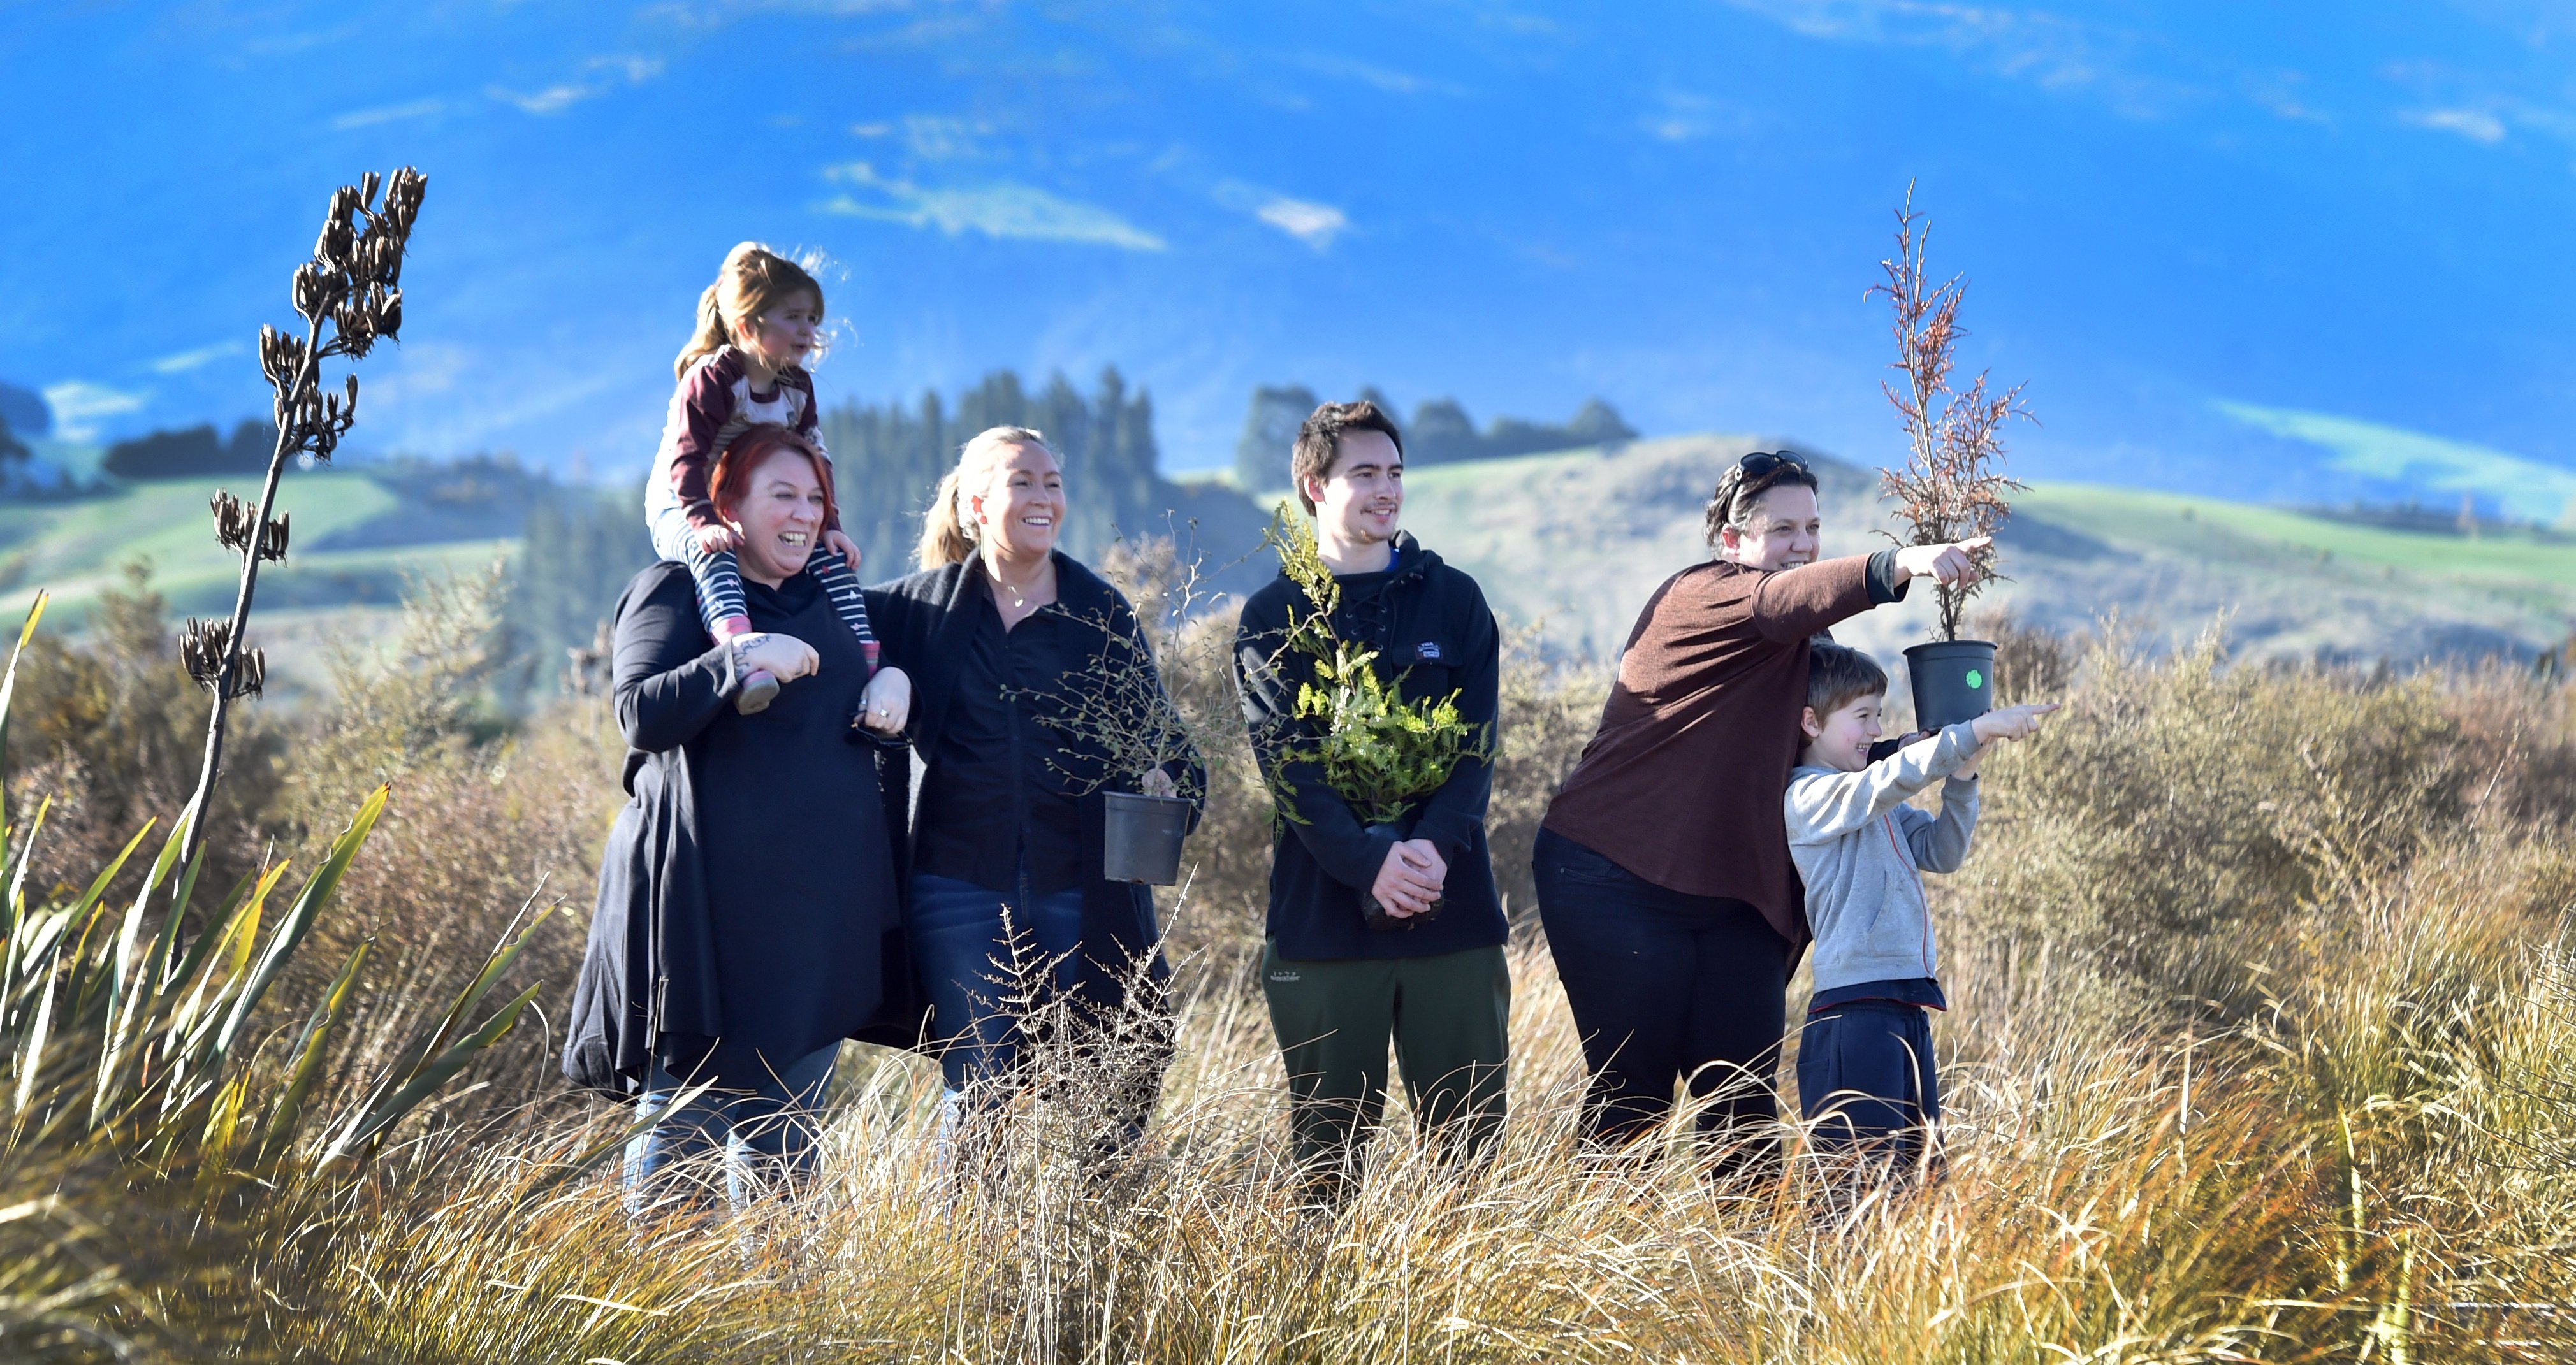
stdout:
{"type": "MultiPolygon", "coordinates": [[[[1458,713],[1494,739],[1502,636],[1476,579],[1396,531],[1404,440],[1373,402],[1316,407],[1291,458],[1316,551],[1342,587],[1334,636],[1378,652],[1406,701],[1458,693],[1458,713]]],[[[1296,1156],[1324,1198],[1358,1177],[1358,1149],[1386,1107],[1386,1046],[1425,1136],[1473,1156],[1502,1125],[1512,979],[1502,901],[1484,845],[1494,773],[1461,762],[1422,806],[1412,837],[1370,832],[1311,762],[1283,762],[1314,739],[1293,719],[1311,659],[1288,652],[1291,613],[1309,610],[1280,574],[1244,603],[1234,641],[1244,721],[1262,770],[1285,791],[1270,855],[1262,986],[1288,1061],[1296,1156]],[[1360,917],[1360,894],[1386,927],[1360,917]],[[1437,912],[1432,912],[1432,904],[1437,912]]]]}

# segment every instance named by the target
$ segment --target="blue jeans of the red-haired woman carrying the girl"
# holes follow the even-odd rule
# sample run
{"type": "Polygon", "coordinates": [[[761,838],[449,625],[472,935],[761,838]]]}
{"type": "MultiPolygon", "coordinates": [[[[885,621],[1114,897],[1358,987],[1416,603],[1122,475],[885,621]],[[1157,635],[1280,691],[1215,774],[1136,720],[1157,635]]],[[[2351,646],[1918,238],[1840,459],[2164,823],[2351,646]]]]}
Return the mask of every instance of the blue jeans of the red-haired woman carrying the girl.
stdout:
{"type": "MultiPolygon", "coordinates": [[[[786,1066],[760,1053],[737,1053],[721,1043],[688,1074],[672,1074],[657,1059],[644,1077],[636,1118],[652,1128],[626,1144],[626,1208],[641,1210],[652,1185],[685,1174],[675,1164],[701,1164],[724,1154],[724,1198],[742,1208],[762,1185],[791,1182],[814,1169],[814,1131],[822,1092],[832,1084],[829,1046],[786,1066]],[[680,1089],[714,1079],[714,1089],[688,1107],[672,1110],[680,1089]]],[[[701,1195],[703,1198],[703,1195],[701,1195]]]]}

